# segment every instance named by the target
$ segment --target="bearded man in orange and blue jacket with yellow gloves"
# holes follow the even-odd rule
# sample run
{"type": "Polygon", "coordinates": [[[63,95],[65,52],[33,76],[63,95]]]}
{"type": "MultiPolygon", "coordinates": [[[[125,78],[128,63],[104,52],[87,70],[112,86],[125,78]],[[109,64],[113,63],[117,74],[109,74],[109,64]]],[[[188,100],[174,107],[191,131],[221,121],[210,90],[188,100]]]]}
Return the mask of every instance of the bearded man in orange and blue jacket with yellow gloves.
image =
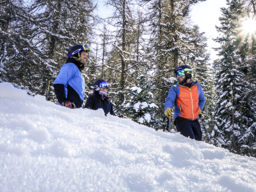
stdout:
{"type": "Polygon", "coordinates": [[[174,124],[178,132],[195,140],[202,140],[198,115],[204,108],[202,87],[192,80],[194,72],[188,65],[175,70],[178,82],[171,86],[165,102],[164,114],[169,117],[174,111],[174,124]],[[174,110],[172,109],[174,105],[174,110]]]}

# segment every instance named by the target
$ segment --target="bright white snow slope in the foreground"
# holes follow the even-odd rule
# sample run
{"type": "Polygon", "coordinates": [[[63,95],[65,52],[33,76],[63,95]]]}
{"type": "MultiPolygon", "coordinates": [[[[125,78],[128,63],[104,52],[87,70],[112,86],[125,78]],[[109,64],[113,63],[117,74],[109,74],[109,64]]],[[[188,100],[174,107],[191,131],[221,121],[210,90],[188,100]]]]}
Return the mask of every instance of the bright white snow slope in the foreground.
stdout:
{"type": "Polygon", "coordinates": [[[256,158],[0,84],[1,192],[256,192],[256,158]]]}

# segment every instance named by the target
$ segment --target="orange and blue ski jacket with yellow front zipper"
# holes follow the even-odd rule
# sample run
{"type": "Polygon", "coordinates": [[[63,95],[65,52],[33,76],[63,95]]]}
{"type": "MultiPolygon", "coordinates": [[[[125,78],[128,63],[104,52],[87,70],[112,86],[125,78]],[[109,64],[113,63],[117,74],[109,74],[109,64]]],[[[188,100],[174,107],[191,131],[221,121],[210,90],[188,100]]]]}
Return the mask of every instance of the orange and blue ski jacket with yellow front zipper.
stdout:
{"type": "Polygon", "coordinates": [[[203,110],[204,104],[204,93],[197,82],[192,81],[190,88],[177,83],[169,90],[164,110],[172,108],[174,105],[174,119],[183,117],[188,120],[196,120],[200,110],[203,110]]]}

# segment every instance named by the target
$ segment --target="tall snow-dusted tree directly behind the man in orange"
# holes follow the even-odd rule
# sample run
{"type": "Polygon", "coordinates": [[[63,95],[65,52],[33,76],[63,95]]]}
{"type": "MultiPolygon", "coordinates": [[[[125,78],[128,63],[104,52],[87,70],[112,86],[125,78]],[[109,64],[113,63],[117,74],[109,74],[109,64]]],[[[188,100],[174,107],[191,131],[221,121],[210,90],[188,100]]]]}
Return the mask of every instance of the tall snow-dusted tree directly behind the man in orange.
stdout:
{"type": "MultiPolygon", "coordinates": [[[[170,86],[176,82],[174,69],[181,64],[193,64],[204,51],[204,63],[208,56],[206,50],[198,47],[205,44],[205,38],[198,27],[192,26],[189,11],[200,0],[151,0],[148,2],[148,22],[150,43],[148,58],[154,72],[154,96],[159,107],[157,116],[164,112],[164,102],[170,86]],[[199,38],[197,38],[199,36],[199,38]],[[200,45],[200,46],[199,46],[200,45]]],[[[201,57],[203,58],[203,57],[201,57]]],[[[164,125],[163,125],[164,129],[164,125]]]]}

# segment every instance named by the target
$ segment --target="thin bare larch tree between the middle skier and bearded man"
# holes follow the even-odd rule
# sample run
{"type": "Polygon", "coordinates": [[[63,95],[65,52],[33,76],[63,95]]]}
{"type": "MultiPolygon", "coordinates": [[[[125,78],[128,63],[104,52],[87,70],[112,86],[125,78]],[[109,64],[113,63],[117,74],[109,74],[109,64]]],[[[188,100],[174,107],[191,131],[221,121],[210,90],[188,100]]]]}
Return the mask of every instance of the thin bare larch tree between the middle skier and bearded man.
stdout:
{"type": "Polygon", "coordinates": [[[136,20],[131,0],[108,0],[113,8],[108,23],[112,28],[112,48],[108,52],[106,75],[111,78],[111,93],[116,114],[124,115],[124,104],[128,88],[133,86],[132,74],[138,65],[136,61],[136,20]]]}

